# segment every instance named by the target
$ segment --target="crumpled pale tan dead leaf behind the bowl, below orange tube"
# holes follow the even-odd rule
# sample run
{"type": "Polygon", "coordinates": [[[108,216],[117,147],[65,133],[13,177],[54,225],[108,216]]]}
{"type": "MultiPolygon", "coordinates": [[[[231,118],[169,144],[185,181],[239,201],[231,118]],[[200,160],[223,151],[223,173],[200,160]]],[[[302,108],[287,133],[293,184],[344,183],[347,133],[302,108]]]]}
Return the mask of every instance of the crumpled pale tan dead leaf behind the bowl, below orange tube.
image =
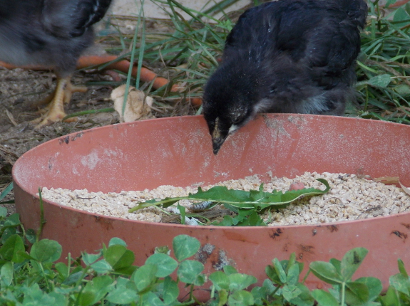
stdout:
{"type": "Polygon", "coordinates": [[[153,105],[153,98],[146,96],[141,90],[130,86],[128,89],[127,102],[125,104],[123,114],[123,102],[126,85],[121,85],[114,89],[111,93],[111,99],[114,101],[114,109],[120,114],[121,122],[131,122],[135,120],[152,118],[151,106],[153,105]]]}

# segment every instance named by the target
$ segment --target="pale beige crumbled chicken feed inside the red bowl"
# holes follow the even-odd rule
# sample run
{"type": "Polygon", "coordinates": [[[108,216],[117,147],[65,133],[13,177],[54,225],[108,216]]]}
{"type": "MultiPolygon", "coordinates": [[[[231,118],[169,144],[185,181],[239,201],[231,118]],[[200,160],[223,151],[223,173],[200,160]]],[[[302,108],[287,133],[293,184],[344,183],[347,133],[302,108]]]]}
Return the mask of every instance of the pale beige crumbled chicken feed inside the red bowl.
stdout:
{"type": "MultiPolygon", "coordinates": [[[[323,178],[329,182],[331,189],[327,194],[298,199],[285,209],[270,209],[262,214],[263,220],[269,226],[320,224],[336,221],[349,221],[362,218],[388,216],[394,213],[410,211],[410,196],[403,189],[394,185],[386,185],[369,177],[356,174],[332,174],[305,172],[294,179],[272,176],[269,181],[264,180],[264,190],[272,192],[287,191],[294,183],[302,183],[306,188],[324,189],[324,185],[316,179],[323,178]]],[[[222,181],[219,186],[228,189],[245,191],[258,190],[262,181],[257,175],[247,176],[245,179],[222,181]]],[[[212,186],[201,186],[203,190],[212,186]]],[[[139,221],[161,222],[168,218],[169,213],[175,213],[175,206],[167,209],[148,207],[134,213],[128,213],[140,202],[150,199],[165,199],[165,197],[188,196],[198,191],[198,184],[189,187],[159,186],[156,189],[143,191],[121,191],[120,193],[88,192],[83,190],[47,189],[43,188],[43,199],[48,199],[62,206],[80,209],[104,216],[128,218],[139,221]]],[[[181,200],[180,205],[186,207],[189,213],[192,201],[181,200]]],[[[213,208],[226,213],[226,210],[215,206],[213,208]]],[[[222,218],[215,213],[215,220],[222,218]]]]}

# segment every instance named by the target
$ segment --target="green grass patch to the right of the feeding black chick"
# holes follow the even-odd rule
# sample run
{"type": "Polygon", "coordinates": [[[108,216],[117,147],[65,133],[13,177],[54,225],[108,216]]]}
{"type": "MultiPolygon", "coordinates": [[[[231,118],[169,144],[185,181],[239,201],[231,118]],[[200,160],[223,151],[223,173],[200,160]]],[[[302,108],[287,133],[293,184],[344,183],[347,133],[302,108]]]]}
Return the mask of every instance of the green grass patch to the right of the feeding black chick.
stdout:
{"type": "Polygon", "coordinates": [[[409,124],[410,4],[386,9],[395,0],[368,1],[357,65],[360,107],[354,115],[409,124]]]}

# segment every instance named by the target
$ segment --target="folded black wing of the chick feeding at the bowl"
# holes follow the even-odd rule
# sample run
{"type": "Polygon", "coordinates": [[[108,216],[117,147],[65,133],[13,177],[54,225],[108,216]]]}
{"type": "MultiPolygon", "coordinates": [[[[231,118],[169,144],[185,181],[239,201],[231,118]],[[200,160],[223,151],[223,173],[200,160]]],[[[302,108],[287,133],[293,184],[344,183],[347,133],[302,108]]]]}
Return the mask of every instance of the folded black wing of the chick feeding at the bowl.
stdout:
{"type": "Polygon", "coordinates": [[[298,6],[282,14],[277,48],[289,53],[294,63],[309,68],[309,78],[325,90],[339,83],[351,86],[360,52],[359,28],[364,28],[367,16],[366,3],[307,1],[307,14],[299,14],[302,4],[298,6]]]}

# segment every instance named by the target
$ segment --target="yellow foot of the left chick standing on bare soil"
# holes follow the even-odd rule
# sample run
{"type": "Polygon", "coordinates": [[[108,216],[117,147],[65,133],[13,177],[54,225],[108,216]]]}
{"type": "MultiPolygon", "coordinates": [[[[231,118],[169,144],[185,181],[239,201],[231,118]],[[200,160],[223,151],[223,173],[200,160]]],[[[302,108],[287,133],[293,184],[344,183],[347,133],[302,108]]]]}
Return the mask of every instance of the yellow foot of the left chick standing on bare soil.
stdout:
{"type": "MultiPolygon", "coordinates": [[[[63,120],[63,117],[66,117],[66,112],[64,112],[64,104],[70,103],[72,93],[86,93],[86,91],[87,88],[85,86],[72,85],[71,77],[59,78],[57,80],[57,87],[56,90],[54,90],[54,93],[46,97],[43,101],[36,103],[36,105],[48,103],[47,112],[43,116],[31,122],[37,124],[36,128],[39,128],[63,120]]],[[[65,121],[73,122],[76,120],[77,118],[68,118],[65,121]]]]}

